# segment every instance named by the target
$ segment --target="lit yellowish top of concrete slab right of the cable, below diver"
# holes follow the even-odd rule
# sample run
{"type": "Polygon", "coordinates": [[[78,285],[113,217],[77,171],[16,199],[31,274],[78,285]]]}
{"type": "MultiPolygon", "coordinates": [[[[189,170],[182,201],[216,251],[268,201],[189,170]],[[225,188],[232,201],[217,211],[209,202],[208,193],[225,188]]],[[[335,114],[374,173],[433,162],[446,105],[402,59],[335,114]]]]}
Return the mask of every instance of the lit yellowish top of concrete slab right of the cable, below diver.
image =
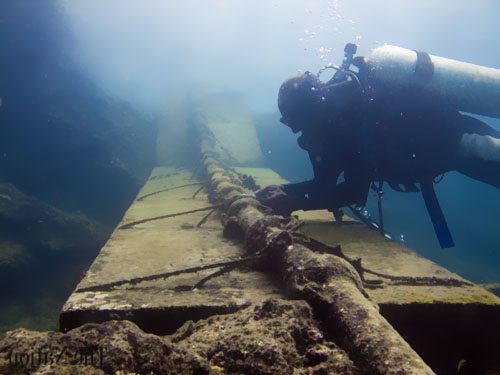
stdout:
{"type": "MultiPolygon", "coordinates": [[[[254,177],[262,185],[286,183],[277,173],[264,168],[236,168],[254,177]]],[[[327,245],[341,245],[350,258],[361,258],[365,268],[390,276],[416,280],[389,280],[366,274],[367,292],[374,302],[384,304],[448,303],[485,304],[500,308],[500,298],[486,289],[463,279],[434,262],[418,255],[407,246],[391,241],[348,216],[341,225],[334,223],[326,210],[293,213],[304,225],[301,230],[327,245]],[[428,278],[422,280],[420,278],[428,278]],[[456,281],[456,283],[454,282],[456,281]],[[415,283],[419,285],[415,285],[415,283]],[[440,283],[444,285],[440,285],[440,283]]],[[[499,310],[500,313],[500,310],[499,310]]]]}

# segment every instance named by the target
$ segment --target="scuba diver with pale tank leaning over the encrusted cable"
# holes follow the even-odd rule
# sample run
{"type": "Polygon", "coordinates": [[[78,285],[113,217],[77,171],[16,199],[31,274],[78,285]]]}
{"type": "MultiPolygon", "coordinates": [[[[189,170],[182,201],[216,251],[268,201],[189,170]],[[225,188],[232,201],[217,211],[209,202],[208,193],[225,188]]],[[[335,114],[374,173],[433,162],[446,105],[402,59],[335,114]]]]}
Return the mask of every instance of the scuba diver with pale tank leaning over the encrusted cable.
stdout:
{"type": "Polygon", "coordinates": [[[314,179],[268,186],[257,191],[257,199],[281,215],[328,209],[341,221],[342,207],[360,212],[370,187],[379,194],[379,216],[384,183],[397,191],[421,191],[441,247],[454,246],[434,183],[458,171],[500,188],[500,132],[459,112],[500,117],[500,85],[492,110],[478,95],[484,87],[474,86],[478,69],[499,84],[500,71],[393,46],[367,57],[355,53],[356,46],[348,44],[328,82],[320,80],[320,71],[281,85],[280,121],[301,132],[297,141],[309,154],[314,179]]]}

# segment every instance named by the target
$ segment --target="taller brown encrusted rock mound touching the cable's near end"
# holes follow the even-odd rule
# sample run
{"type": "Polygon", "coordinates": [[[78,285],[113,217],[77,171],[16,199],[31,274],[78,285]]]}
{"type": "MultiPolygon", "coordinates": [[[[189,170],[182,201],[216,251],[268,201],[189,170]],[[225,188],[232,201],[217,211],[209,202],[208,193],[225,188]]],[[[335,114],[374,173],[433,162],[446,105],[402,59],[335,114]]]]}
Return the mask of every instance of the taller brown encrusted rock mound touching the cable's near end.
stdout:
{"type": "Polygon", "coordinates": [[[224,373],[357,373],[347,354],[323,337],[304,301],[267,300],[236,314],[187,323],[172,341],[224,373]]]}

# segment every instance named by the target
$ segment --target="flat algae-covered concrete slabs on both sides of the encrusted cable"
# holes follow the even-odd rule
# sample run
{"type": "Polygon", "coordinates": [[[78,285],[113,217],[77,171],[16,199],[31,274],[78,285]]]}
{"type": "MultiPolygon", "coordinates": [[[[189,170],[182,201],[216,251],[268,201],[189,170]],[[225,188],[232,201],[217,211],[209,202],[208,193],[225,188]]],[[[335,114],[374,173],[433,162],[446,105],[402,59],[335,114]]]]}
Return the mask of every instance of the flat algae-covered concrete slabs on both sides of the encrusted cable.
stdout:
{"type": "MultiPolygon", "coordinates": [[[[286,182],[265,168],[237,170],[252,175],[261,186],[286,182]]],[[[164,189],[175,189],[136,200],[120,225],[210,206],[204,192],[192,199],[193,193],[201,186],[197,182],[188,170],[156,168],[138,198],[164,189]]],[[[280,295],[278,286],[266,275],[237,270],[214,278],[204,288],[193,291],[189,290],[190,286],[214,271],[143,281],[136,285],[125,284],[110,290],[79,291],[241,256],[241,244],[222,237],[217,214],[211,215],[201,227],[196,226],[206,214],[207,211],[202,211],[149,221],[130,229],[118,227],[64,305],[61,329],[68,330],[90,321],[127,318],[147,331],[168,332],[187,319],[235,311],[269,296],[280,295]]],[[[335,225],[327,211],[299,211],[295,214],[306,223],[302,228],[306,234],[329,245],[341,244],[346,255],[362,258],[368,269],[393,276],[436,280],[429,285],[398,285],[367,274],[367,279],[382,281],[367,288],[367,292],[388,316],[410,314],[418,310],[418,306],[447,305],[453,313],[458,311],[457,306],[481,306],[494,312],[495,319],[500,319],[500,298],[472,283],[439,285],[439,280],[448,283],[450,280],[458,283],[466,280],[400,243],[387,240],[362,223],[347,219],[343,225],[335,225]]]]}

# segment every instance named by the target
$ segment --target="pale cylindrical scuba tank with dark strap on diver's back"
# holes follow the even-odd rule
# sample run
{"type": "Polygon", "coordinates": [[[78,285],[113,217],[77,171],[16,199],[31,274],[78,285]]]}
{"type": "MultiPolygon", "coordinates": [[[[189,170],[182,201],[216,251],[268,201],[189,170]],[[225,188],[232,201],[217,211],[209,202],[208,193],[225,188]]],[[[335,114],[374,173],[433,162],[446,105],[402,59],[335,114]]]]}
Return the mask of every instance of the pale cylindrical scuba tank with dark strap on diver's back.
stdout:
{"type": "Polygon", "coordinates": [[[460,111],[500,118],[500,69],[391,45],[375,48],[354,64],[375,90],[417,85],[460,111]]]}

